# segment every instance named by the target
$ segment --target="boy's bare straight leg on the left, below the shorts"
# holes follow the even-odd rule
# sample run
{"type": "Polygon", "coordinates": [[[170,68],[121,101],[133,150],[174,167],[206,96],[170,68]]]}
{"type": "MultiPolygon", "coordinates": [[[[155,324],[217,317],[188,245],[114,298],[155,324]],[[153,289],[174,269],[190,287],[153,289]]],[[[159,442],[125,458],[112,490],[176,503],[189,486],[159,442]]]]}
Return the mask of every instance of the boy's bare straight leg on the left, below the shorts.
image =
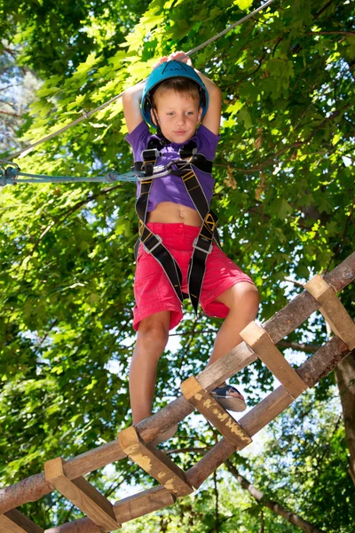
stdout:
{"type": "Polygon", "coordinates": [[[133,425],[152,414],[156,367],[169,338],[170,311],[147,316],[138,325],[130,363],[130,407],[133,425]]]}

